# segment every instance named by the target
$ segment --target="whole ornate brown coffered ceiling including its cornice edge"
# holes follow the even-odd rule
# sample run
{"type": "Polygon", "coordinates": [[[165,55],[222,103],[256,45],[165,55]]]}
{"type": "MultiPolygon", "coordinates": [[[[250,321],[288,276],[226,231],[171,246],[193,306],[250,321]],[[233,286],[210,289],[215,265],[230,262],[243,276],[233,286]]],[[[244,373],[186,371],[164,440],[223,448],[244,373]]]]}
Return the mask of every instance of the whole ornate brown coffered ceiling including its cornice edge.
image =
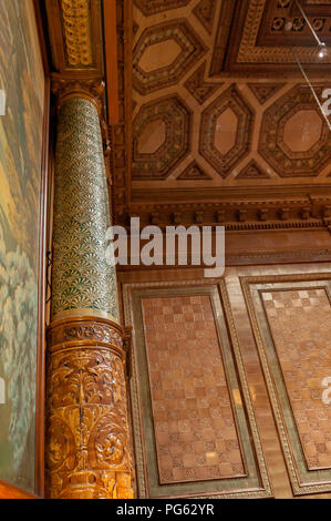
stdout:
{"type": "MultiPolygon", "coordinates": [[[[130,3],[117,1],[116,222],[329,225],[331,133],[290,45],[319,96],[331,52],[318,58],[294,0],[130,3]]],[[[331,0],[301,3],[331,44],[331,0]]]]}

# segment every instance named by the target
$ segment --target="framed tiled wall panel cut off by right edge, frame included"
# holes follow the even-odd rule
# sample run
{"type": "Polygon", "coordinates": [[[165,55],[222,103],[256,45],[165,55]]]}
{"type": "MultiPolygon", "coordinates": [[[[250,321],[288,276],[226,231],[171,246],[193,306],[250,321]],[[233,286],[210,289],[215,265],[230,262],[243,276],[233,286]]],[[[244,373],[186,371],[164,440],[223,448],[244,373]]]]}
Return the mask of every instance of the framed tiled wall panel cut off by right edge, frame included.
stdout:
{"type": "Polygon", "coordinates": [[[242,279],[294,496],[331,491],[331,280],[242,279]]]}

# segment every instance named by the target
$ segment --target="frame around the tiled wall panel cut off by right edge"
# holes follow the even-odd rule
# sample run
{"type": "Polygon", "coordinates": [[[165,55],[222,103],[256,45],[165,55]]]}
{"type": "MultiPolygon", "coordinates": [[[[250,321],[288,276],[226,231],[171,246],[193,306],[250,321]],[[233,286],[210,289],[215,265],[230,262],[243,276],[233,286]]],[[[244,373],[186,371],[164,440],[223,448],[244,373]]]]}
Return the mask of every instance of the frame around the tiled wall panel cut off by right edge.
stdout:
{"type": "Polygon", "coordinates": [[[268,350],[275,351],[261,293],[325,288],[331,302],[331,274],[241,277],[241,287],[261,361],[272,412],[277,425],[293,496],[331,491],[331,470],[308,470],[280,367],[272,364],[268,350]],[[287,412],[287,413],[286,413],[287,412]]]}

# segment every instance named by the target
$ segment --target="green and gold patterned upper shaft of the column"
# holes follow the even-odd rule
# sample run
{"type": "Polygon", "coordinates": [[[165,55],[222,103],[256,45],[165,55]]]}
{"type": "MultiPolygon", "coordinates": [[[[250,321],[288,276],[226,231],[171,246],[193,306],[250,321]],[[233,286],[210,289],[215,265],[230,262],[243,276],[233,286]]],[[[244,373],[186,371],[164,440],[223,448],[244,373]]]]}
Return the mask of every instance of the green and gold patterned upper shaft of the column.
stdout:
{"type": "Polygon", "coordinates": [[[69,310],[118,321],[115,267],[105,262],[108,192],[99,114],[71,98],[59,114],[52,270],[52,319],[69,310]]]}

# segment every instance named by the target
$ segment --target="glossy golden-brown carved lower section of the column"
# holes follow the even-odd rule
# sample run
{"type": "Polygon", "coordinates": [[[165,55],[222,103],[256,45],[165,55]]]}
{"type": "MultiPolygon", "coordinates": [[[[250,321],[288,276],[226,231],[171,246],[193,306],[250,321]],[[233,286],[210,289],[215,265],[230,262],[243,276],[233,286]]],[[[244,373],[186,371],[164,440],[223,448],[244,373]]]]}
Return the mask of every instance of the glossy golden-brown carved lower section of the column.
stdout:
{"type": "Polygon", "coordinates": [[[118,350],[112,345],[62,344],[50,355],[46,381],[49,496],[132,497],[124,360],[118,350]]]}

